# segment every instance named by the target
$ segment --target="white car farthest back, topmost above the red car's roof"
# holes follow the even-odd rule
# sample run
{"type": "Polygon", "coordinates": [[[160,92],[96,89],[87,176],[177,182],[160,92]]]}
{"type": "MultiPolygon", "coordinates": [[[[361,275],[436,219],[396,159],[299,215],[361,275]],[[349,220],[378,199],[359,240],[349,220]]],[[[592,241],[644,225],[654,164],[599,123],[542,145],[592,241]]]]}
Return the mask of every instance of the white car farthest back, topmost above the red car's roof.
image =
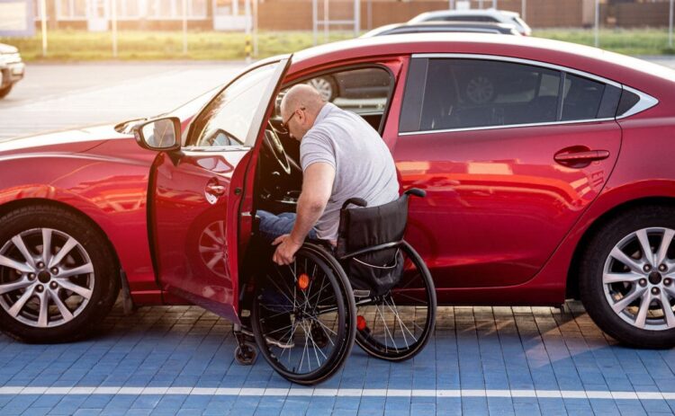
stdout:
{"type": "Polygon", "coordinates": [[[409,23],[439,21],[507,23],[513,25],[523,36],[532,34],[532,29],[520,18],[520,14],[497,9],[437,10],[436,12],[421,13],[410,19],[409,23]]]}

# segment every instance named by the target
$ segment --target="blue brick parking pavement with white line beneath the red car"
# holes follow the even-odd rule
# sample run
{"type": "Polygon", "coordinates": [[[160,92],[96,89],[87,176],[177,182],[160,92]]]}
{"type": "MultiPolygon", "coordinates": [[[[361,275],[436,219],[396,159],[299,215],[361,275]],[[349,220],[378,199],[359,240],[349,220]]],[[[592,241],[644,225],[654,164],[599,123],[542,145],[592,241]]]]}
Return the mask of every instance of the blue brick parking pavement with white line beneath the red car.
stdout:
{"type": "Polygon", "coordinates": [[[0,336],[0,414],[672,414],[675,351],[606,338],[578,303],[442,307],[403,363],[355,346],[321,385],[233,358],[231,325],[197,306],[116,306],[96,337],[26,345],[0,336]]]}

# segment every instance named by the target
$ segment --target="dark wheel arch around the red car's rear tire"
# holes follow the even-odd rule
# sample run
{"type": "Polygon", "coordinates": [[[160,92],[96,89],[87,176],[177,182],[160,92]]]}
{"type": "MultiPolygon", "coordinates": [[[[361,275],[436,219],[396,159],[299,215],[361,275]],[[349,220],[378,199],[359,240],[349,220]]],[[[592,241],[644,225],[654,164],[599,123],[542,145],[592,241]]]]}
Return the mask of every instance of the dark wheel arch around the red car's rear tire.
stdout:
{"type": "Polygon", "coordinates": [[[605,226],[612,217],[616,217],[631,209],[646,206],[667,206],[675,208],[675,197],[644,197],[625,201],[613,208],[608,209],[586,229],[581,235],[581,239],[574,249],[572,261],[567,270],[567,281],[565,285],[565,297],[579,299],[579,272],[581,270],[581,259],[584,252],[589,247],[592,238],[598,234],[599,230],[605,226]]]}

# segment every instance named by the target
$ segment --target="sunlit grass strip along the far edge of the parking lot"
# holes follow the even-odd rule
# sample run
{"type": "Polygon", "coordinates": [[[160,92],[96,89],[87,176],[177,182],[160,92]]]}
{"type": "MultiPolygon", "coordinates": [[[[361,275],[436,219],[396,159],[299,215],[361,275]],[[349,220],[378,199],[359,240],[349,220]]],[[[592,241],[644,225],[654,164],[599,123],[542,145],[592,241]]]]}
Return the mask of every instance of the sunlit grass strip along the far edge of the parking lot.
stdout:
{"type": "MultiPolygon", "coordinates": [[[[593,46],[592,30],[545,29],[535,36],[593,46]]],[[[330,40],[350,39],[351,32],[338,32],[330,40]]],[[[21,50],[25,61],[87,61],[112,59],[110,32],[49,31],[47,57],[42,57],[40,34],[32,38],[0,38],[21,50]]],[[[323,40],[320,35],[320,41],[323,40]]],[[[188,33],[188,53],[183,54],[183,34],[179,31],[120,31],[118,59],[196,59],[222,60],[246,58],[243,33],[193,31],[188,33]]],[[[258,36],[258,58],[294,52],[312,46],[311,31],[263,31],[258,36]]],[[[603,30],[600,48],[626,55],[673,54],[668,49],[666,30],[603,30]]]]}

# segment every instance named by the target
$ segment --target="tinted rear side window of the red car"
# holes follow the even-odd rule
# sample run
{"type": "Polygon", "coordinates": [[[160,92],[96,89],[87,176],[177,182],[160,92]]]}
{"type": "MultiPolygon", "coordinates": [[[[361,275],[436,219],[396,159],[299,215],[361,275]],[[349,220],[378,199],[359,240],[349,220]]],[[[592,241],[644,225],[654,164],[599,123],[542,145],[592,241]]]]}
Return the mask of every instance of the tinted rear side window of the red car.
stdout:
{"type": "Polygon", "coordinates": [[[607,119],[620,87],[519,62],[416,58],[401,108],[401,132],[607,119]]]}

